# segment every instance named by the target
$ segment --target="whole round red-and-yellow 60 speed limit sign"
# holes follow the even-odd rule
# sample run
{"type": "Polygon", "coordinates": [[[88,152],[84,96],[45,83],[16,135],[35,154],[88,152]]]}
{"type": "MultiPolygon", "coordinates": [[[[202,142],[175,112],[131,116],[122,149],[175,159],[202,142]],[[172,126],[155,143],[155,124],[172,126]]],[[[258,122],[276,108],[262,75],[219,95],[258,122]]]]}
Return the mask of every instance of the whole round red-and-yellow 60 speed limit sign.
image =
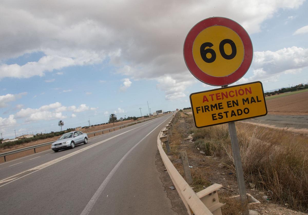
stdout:
{"type": "Polygon", "coordinates": [[[213,17],[197,23],[184,42],[189,71],[205,84],[223,86],[245,75],[253,47],[245,29],[231,19],[213,17]]]}

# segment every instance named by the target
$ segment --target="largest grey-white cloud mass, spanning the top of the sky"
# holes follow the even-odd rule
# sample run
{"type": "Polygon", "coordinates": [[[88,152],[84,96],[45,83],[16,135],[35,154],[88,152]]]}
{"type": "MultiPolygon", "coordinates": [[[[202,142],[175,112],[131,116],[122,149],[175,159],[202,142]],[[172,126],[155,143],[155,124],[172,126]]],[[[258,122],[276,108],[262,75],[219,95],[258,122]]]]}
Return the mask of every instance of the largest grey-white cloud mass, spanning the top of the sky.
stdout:
{"type": "MultiPolygon", "coordinates": [[[[260,32],[261,24],[279,9],[295,9],[303,2],[218,0],[205,4],[197,0],[174,6],[174,2],[162,0],[137,0],[134,5],[130,1],[71,1],[63,7],[45,1],[6,1],[0,13],[10,22],[0,21],[0,62],[26,53],[45,56],[25,65],[0,65],[0,79],[44,76],[70,66],[99,64],[107,57],[131,80],[170,76],[181,83],[185,81],[181,76],[188,72],[183,41],[197,22],[205,17],[228,17],[252,34],[260,32]]],[[[181,90],[166,93],[166,98],[183,96],[185,87],[181,90]]]]}

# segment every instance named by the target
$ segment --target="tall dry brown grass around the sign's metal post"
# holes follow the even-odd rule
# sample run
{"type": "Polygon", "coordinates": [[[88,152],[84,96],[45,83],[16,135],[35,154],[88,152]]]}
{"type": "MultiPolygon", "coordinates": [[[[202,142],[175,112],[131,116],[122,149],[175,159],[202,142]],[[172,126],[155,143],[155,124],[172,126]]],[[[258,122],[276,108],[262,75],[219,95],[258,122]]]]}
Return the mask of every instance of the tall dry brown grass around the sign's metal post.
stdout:
{"type": "MultiPolygon", "coordinates": [[[[179,112],[178,117],[193,127],[191,115],[179,112]]],[[[193,133],[195,147],[207,155],[220,158],[235,173],[226,124],[193,128],[189,132],[193,133]]],[[[270,132],[260,127],[242,127],[237,131],[237,136],[246,180],[256,184],[258,189],[268,190],[272,200],[282,205],[288,203],[293,209],[307,212],[307,139],[301,137],[298,142],[299,136],[290,135],[290,132],[270,132]]],[[[236,213],[229,211],[228,214],[236,213]]]]}

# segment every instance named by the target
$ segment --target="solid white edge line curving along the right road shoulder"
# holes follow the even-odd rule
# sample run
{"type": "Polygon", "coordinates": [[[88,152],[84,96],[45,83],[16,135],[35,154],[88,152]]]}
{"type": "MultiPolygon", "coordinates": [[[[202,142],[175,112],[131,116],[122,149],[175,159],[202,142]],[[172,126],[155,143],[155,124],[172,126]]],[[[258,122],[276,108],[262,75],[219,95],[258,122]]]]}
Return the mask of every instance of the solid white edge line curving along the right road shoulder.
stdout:
{"type": "MultiPolygon", "coordinates": [[[[107,175],[107,177],[105,178],[105,180],[103,181],[103,183],[99,186],[99,188],[96,190],[96,192],[94,193],[94,195],[92,196],[92,198],[90,199],[90,201],[88,202],[88,204],[86,205],[86,207],[83,209],[83,211],[81,212],[80,215],[88,215],[91,211],[91,209],[93,208],[95,202],[97,201],[97,199],[99,198],[100,194],[102,194],[104,188],[107,186],[107,183],[109,182],[109,180],[111,179],[111,177],[113,176],[113,174],[115,173],[115,171],[119,168],[119,166],[121,165],[121,163],[125,160],[125,158],[139,145],[139,143],[141,143],[148,135],[150,135],[156,128],[158,128],[161,124],[165,123],[165,121],[167,121],[169,119],[169,117],[164,120],[164,122],[160,123],[158,126],[156,126],[152,131],[150,131],[150,133],[148,133],[147,135],[144,136],[144,138],[142,138],[138,143],[136,143],[135,146],[133,146],[124,156],[123,158],[121,158],[121,160],[115,165],[115,167],[113,167],[113,169],[111,170],[111,172],[107,175]]],[[[107,196],[108,197],[108,196],[107,196]]]]}

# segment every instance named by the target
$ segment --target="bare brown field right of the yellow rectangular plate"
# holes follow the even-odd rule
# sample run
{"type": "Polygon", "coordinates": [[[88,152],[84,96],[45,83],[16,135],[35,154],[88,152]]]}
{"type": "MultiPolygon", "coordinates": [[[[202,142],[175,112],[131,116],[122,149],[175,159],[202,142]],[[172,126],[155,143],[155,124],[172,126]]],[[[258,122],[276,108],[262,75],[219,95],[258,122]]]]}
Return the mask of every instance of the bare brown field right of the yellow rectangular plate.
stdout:
{"type": "Polygon", "coordinates": [[[308,115],[308,92],[266,101],[268,114],[308,115]]]}

